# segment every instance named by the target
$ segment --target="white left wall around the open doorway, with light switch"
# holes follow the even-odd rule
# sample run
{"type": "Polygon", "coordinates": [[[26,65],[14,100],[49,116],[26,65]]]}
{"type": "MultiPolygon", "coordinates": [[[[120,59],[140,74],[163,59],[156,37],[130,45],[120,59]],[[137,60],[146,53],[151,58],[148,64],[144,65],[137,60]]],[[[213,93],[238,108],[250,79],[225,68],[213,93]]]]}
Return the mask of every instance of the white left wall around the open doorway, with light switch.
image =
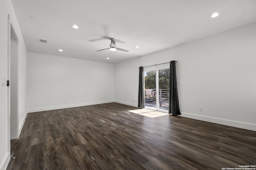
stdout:
{"type": "MultiPolygon", "coordinates": [[[[18,50],[18,126],[22,127],[22,121],[26,118],[26,46],[16,19],[14,9],[10,0],[0,1],[0,78],[8,77],[8,14],[19,39],[18,50]]],[[[10,136],[8,137],[8,87],[0,84],[0,169],[6,169],[10,160],[10,136]]],[[[10,115],[9,115],[10,116],[10,115]]],[[[10,129],[9,129],[10,130],[10,129]]],[[[21,131],[21,129],[19,129],[21,131]]]]}

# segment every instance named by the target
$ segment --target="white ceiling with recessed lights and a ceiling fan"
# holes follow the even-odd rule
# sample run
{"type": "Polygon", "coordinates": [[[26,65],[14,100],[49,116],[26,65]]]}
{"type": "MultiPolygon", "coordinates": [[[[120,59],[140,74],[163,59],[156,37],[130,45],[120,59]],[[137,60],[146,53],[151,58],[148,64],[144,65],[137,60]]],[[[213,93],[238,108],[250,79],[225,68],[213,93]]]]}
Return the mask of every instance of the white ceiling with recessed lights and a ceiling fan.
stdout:
{"type": "Polygon", "coordinates": [[[28,51],[109,63],[256,21],[256,0],[12,0],[12,4],[28,51]],[[214,12],[220,15],[211,18],[214,12]],[[79,29],[73,29],[74,24],[79,29]],[[96,52],[109,48],[109,39],[92,41],[104,36],[123,41],[116,47],[130,52],[96,52]]]}

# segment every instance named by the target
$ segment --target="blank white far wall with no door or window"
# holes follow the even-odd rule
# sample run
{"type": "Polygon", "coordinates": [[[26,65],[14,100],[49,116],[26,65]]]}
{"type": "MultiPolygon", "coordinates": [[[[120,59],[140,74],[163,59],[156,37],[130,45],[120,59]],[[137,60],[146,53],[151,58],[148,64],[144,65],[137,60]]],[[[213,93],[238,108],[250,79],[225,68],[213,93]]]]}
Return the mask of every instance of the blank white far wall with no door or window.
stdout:
{"type": "Polygon", "coordinates": [[[28,112],[108,102],[114,64],[28,52],[28,112]]]}

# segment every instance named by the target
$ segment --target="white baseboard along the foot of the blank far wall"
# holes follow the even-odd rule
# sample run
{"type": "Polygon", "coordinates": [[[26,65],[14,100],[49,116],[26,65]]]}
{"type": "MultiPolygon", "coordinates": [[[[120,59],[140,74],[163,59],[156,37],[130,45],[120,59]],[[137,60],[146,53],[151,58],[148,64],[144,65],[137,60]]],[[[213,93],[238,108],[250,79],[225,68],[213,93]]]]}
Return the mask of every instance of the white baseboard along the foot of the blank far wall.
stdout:
{"type": "Polygon", "coordinates": [[[106,101],[100,101],[100,102],[90,102],[90,103],[70,104],[70,105],[63,105],[63,106],[34,108],[34,109],[28,109],[28,113],[38,112],[38,111],[47,111],[47,110],[56,110],[56,109],[66,109],[66,108],[71,108],[71,107],[89,106],[89,105],[95,105],[95,104],[105,104],[105,103],[112,103],[112,102],[115,102],[115,101],[114,100],[106,100],[106,101]]]}

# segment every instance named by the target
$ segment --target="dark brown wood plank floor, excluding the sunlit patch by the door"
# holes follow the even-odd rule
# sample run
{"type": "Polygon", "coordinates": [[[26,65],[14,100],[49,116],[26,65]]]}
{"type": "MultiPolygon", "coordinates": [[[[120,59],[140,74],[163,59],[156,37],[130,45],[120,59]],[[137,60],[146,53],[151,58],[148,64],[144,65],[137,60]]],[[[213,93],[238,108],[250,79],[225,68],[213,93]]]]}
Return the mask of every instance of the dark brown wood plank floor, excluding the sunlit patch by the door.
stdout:
{"type": "Polygon", "coordinates": [[[110,103],[28,113],[7,170],[221,170],[256,164],[256,131],[110,103]]]}

